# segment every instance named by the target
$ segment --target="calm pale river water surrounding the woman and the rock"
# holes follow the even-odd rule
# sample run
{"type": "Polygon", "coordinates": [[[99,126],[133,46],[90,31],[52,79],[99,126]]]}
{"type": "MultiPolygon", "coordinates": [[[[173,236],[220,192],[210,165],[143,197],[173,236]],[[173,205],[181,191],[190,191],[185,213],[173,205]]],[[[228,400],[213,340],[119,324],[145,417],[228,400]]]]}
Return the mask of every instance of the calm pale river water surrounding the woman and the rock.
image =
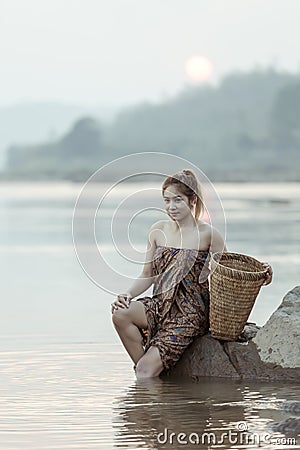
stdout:
{"type": "MultiPolygon", "coordinates": [[[[136,381],[111,325],[112,296],[89,280],[73,249],[71,218],[79,188],[0,186],[0,448],[240,449],[258,448],[258,440],[263,449],[300,448],[270,428],[294,415],[282,406],[299,399],[295,384],[136,381]],[[205,432],[212,433],[210,443],[205,432]]],[[[250,316],[262,325],[299,284],[300,185],[218,189],[228,249],[274,268],[274,281],[262,288],[250,316]]],[[[133,233],[137,245],[143,246],[150,219],[133,233]]],[[[106,244],[105,254],[117,267],[106,244]]],[[[129,274],[136,272],[127,266],[129,274]]]]}

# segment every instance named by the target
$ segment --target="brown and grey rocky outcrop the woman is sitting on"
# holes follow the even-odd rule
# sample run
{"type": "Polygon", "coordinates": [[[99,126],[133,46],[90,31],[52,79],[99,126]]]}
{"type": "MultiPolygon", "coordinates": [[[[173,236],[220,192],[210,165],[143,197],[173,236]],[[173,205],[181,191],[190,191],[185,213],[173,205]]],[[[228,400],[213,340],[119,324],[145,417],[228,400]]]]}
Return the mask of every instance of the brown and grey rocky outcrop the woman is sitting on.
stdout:
{"type": "MultiPolygon", "coordinates": [[[[194,380],[208,376],[240,380],[299,382],[300,367],[296,365],[299,357],[299,322],[295,319],[298,315],[297,311],[299,312],[299,304],[300,287],[297,287],[284,297],[282,304],[266,325],[260,328],[248,322],[237,341],[221,341],[214,339],[210,334],[198,337],[185,351],[176,366],[167,373],[163,372],[162,376],[188,377],[194,380]],[[272,326],[270,326],[270,321],[272,326]],[[293,331],[284,335],[287,328],[293,331]],[[274,338],[276,338],[276,352],[280,354],[280,361],[282,359],[285,361],[285,366],[278,364],[277,361],[263,360],[261,357],[265,353],[262,347],[259,347],[259,352],[256,341],[260,342],[261,346],[263,346],[264,339],[270,343],[271,333],[281,335],[280,345],[277,340],[278,336],[274,336],[274,338]],[[264,336],[268,336],[269,340],[264,336]],[[295,342],[297,336],[298,340],[295,342]],[[294,352],[294,348],[298,348],[298,353],[294,352]],[[291,351],[293,358],[285,355],[285,351],[291,351]],[[288,363],[288,361],[291,362],[288,363]],[[289,367],[287,364],[291,364],[291,366],[289,367]]],[[[274,350],[274,353],[276,352],[274,350]]],[[[270,355],[273,352],[267,353],[270,355]]]]}

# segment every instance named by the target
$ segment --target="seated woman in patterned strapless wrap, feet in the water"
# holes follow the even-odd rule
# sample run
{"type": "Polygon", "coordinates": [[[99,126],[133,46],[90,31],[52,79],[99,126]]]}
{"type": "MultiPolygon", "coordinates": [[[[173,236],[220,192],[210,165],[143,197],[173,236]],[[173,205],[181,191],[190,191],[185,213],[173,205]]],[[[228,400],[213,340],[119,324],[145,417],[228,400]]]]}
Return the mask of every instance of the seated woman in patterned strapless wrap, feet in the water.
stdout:
{"type": "MultiPolygon", "coordinates": [[[[208,332],[209,254],[227,251],[219,231],[199,220],[204,205],[194,171],[167,177],[162,194],[170,220],[152,225],[142,273],[112,303],[113,324],[137,378],[159,376],[176,364],[196,336],[208,332]],[[152,297],[132,302],[152,284],[152,297]]],[[[272,268],[264,266],[266,285],[272,281],[272,268]]]]}

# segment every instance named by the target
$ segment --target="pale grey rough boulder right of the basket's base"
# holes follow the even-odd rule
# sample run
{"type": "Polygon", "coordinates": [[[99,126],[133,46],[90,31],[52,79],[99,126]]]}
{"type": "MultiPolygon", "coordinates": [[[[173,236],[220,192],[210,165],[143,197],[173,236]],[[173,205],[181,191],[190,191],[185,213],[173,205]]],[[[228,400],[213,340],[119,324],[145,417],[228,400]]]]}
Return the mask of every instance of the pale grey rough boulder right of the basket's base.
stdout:
{"type": "Polygon", "coordinates": [[[300,286],[286,294],[253,341],[262,361],[300,367],[300,286]]]}

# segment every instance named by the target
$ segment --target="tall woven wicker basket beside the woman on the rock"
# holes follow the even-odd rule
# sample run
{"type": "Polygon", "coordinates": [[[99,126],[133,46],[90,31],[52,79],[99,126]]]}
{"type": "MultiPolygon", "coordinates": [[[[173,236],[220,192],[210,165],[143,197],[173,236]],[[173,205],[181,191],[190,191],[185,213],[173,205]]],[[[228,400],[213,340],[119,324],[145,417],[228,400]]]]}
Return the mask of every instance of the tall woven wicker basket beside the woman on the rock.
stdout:
{"type": "Polygon", "coordinates": [[[244,329],[266,269],[251,256],[214,253],[210,275],[210,332],[214,338],[235,341],[244,329]]]}

